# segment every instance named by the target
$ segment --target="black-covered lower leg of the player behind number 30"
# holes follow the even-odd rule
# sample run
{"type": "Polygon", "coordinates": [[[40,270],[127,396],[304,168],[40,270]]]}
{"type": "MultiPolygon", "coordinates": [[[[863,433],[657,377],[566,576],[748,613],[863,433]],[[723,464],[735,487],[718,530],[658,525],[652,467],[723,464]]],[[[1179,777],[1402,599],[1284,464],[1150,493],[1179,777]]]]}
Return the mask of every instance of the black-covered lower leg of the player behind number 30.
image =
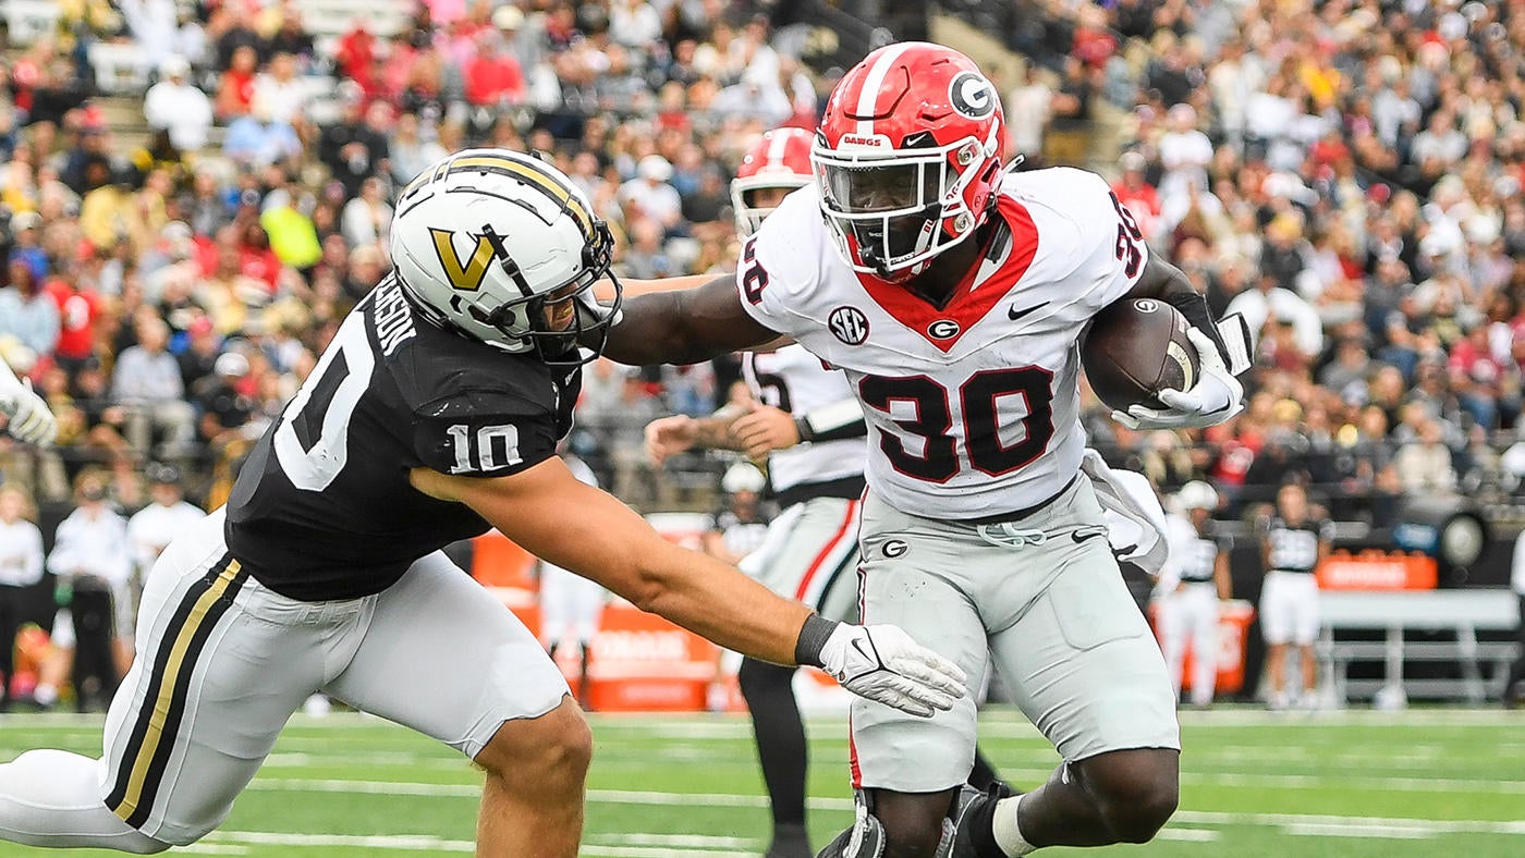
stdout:
{"type": "Polygon", "coordinates": [[[805,722],[795,703],[795,668],[743,658],[737,680],[752,710],[773,824],[804,824],[807,748],[805,722]]]}

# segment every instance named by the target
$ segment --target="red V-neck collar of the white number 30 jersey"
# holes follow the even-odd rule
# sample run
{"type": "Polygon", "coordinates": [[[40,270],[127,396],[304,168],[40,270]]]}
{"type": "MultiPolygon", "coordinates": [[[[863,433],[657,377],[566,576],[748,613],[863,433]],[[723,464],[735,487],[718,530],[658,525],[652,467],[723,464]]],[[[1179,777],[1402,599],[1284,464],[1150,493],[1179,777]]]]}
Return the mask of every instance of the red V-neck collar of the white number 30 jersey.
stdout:
{"type": "Polygon", "coordinates": [[[1000,299],[1011,293],[1017,280],[1028,273],[1028,267],[1032,265],[1032,258],[1039,251],[1039,230],[1032,224],[1032,215],[1028,213],[1026,206],[1005,194],[996,200],[996,215],[1006,221],[1006,227],[1011,230],[1011,248],[1006,253],[1006,261],[991,271],[988,277],[976,283],[974,277],[979,276],[981,264],[985,259],[982,253],[979,262],[964,274],[962,280],[953,290],[953,297],[947,306],[938,309],[930,302],[917,297],[910,290],[886,283],[872,274],[859,274],[863,291],[884,312],[894,315],[897,322],[915,331],[938,349],[944,352],[950,351],[964,337],[965,331],[973,328],[991,308],[1000,303],[1000,299]],[[952,335],[933,337],[933,323],[938,322],[944,323],[942,328],[949,322],[953,322],[958,325],[958,329],[952,335]]]}

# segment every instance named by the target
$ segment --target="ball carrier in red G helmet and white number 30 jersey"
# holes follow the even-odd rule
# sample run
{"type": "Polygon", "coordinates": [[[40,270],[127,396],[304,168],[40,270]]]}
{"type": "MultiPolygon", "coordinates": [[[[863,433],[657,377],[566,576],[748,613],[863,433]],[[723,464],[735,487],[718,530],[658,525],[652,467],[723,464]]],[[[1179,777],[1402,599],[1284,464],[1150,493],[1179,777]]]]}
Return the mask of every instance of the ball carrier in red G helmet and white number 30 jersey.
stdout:
{"type": "Polygon", "coordinates": [[[999,96],[967,56],[875,50],[828,99],[816,183],[743,244],[735,277],[631,297],[608,329],[608,355],[630,364],[793,337],[843,369],[869,427],[863,616],[906,623],[971,675],[993,655],[1064,757],[1032,792],[955,803],[973,698],[930,719],[854,703],[862,802],[824,855],[1147,841],[1176,808],[1170,677],[1078,479],[1077,340],[1121,299],[1191,322],[1202,379],[1115,415],[1135,428],[1235,415],[1247,341],[1225,341],[1100,175],[1010,174],[1003,145],[999,96]]]}

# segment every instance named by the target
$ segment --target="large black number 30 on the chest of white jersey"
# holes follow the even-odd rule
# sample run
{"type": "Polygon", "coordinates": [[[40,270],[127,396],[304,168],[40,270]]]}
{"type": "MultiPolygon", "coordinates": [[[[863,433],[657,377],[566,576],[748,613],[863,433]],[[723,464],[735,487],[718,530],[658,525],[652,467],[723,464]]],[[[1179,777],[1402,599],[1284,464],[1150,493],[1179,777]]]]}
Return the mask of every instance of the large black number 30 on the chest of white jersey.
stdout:
{"type": "MultiPolygon", "coordinates": [[[[958,389],[959,411],[964,415],[964,447],[974,469],[996,475],[1031,463],[1054,437],[1054,373],[1043,367],[990,369],[976,372],[958,389]],[[1011,447],[1000,442],[1002,418],[997,401],[1020,396],[1026,415],[1020,419],[1023,437],[1011,447]]],[[[886,415],[892,402],[909,402],[915,416],[897,419],[895,425],[921,439],[921,453],[912,453],[906,442],[880,433],[878,448],[901,474],[918,480],[942,483],[958,474],[958,440],[949,389],[926,375],[910,378],[866,376],[859,383],[863,404],[886,415]]]]}

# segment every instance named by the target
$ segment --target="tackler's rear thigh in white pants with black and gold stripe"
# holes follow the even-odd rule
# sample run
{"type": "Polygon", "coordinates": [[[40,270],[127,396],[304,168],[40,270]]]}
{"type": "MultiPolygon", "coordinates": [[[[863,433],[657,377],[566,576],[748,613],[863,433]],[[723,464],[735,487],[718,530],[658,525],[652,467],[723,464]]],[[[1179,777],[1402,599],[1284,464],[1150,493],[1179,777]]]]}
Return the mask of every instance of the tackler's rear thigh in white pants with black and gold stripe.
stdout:
{"type": "Polygon", "coordinates": [[[310,610],[241,568],[220,515],[172,544],[149,573],[137,657],[107,715],[107,808],[166,843],[217,828],[322,681],[310,610]]]}

